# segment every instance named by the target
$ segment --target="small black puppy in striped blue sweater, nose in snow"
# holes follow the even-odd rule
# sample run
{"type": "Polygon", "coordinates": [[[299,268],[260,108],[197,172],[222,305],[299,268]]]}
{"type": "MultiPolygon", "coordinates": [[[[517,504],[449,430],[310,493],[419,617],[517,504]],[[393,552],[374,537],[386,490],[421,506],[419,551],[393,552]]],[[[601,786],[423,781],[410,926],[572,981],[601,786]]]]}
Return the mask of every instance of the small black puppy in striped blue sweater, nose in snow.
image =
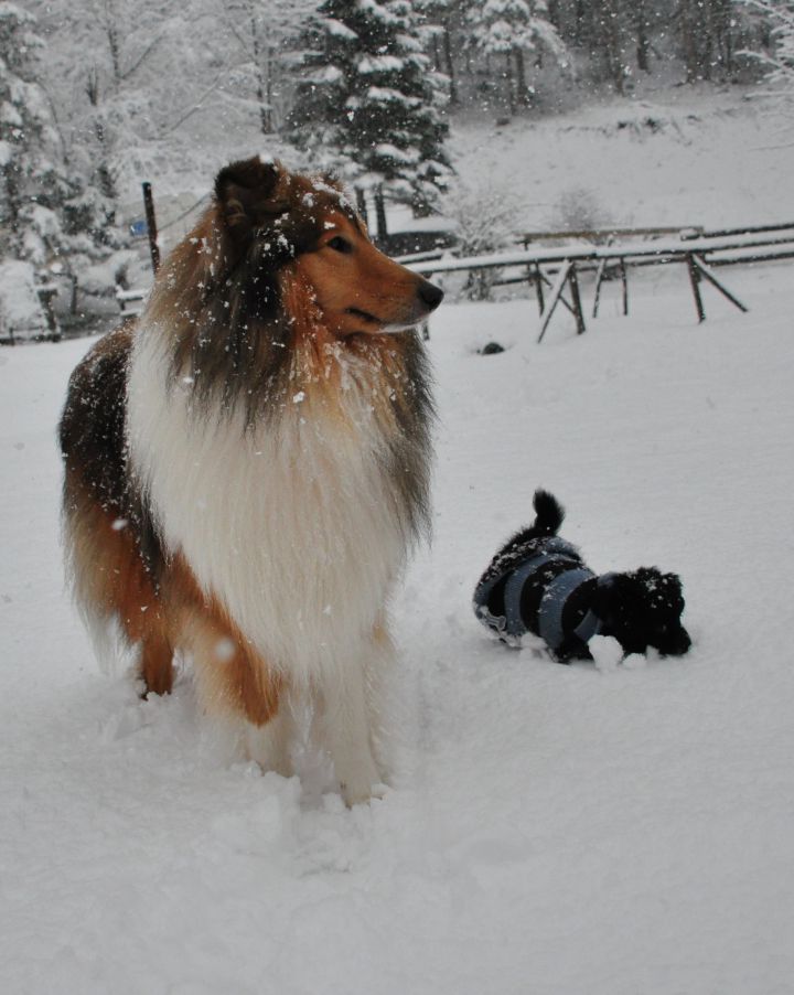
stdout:
{"type": "Polygon", "coordinates": [[[539,635],[562,663],[591,660],[593,635],[612,635],[624,653],[648,646],[680,656],[690,646],[680,623],[680,579],[655,567],[630,574],[588,569],[576,546],[557,536],[565,510],[546,491],[536,491],[536,518],[496,554],[474,591],[478,618],[505,642],[539,635]]]}

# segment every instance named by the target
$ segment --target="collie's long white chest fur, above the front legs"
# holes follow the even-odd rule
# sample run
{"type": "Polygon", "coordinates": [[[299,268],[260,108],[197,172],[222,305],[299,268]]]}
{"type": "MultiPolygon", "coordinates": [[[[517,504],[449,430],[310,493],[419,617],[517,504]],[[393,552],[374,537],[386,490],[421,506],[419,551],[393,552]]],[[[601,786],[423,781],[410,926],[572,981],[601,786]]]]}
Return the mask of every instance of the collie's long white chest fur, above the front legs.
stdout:
{"type": "Polygon", "coordinates": [[[405,557],[366,376],[329,408],[297,388],[271,426],[191,411],[155,343],[129,378],[130,454],[163,539],[276,666],[311,677],[369,638],[405,557]]]}

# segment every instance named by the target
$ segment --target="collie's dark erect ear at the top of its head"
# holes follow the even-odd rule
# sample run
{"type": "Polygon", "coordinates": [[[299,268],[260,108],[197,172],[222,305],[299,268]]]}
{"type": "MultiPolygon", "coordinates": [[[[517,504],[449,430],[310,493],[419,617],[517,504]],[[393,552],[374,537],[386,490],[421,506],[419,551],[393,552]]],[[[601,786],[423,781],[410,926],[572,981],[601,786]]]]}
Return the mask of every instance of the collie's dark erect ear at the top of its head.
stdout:
{"type": "Polygon", "coordinates": [[[224,167],[215,179],[215,196],[229,233],[247,240],[253,231],[288,210],[273,199],[285,170],[280,162],[262,161],[258,156],[224,167]]]}

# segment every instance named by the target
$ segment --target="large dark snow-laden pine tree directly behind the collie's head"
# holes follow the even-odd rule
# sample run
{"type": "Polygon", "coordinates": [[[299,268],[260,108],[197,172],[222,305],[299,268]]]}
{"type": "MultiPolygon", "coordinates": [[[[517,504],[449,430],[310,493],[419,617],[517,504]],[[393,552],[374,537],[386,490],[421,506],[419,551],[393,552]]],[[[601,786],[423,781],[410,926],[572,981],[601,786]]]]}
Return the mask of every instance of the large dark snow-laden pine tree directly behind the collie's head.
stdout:
{"type": "Polygon", "coordinates": [[[325,0],[302,34],[287,137],[313,164],[426,213],[450,174],[446,78],[408,0],[325,0]]]}

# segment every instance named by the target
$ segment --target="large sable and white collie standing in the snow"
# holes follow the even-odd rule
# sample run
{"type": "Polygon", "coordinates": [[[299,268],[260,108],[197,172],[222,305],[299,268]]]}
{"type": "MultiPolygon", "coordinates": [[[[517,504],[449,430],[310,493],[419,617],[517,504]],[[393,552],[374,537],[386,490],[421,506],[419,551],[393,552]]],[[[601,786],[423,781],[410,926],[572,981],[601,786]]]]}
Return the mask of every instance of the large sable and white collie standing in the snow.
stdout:
{"type": "Polygon", "coordinates": [[[294,705],[348,804],[387,775],[388,601],[429,527],[432,400],[416,327],[442,292],[369,242],[342,189],[232,163],[133,325],[72,375],[69,574],[93,629],[175,651],[206,712],[290,769],[294,705]]]}

